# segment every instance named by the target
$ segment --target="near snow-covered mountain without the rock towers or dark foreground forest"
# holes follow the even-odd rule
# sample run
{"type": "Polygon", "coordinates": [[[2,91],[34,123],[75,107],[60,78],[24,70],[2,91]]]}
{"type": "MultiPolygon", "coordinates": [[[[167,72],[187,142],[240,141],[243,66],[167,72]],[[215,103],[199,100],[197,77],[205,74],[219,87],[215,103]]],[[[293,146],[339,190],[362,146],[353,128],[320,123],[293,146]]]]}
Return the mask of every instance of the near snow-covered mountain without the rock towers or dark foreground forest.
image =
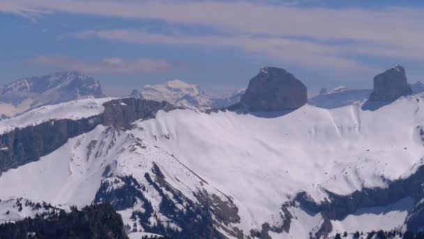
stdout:
{"type": "Polygon", "coordinates": [[[32,110],[1,126],[0,199],[106,201],[128,233],[172,238],[416,231],[424,217],[424,99],[376,110],[363,103],[202,113],[86,99],[32,110]],[[52,139],[59,143],[45,149],[52,139]]]}

